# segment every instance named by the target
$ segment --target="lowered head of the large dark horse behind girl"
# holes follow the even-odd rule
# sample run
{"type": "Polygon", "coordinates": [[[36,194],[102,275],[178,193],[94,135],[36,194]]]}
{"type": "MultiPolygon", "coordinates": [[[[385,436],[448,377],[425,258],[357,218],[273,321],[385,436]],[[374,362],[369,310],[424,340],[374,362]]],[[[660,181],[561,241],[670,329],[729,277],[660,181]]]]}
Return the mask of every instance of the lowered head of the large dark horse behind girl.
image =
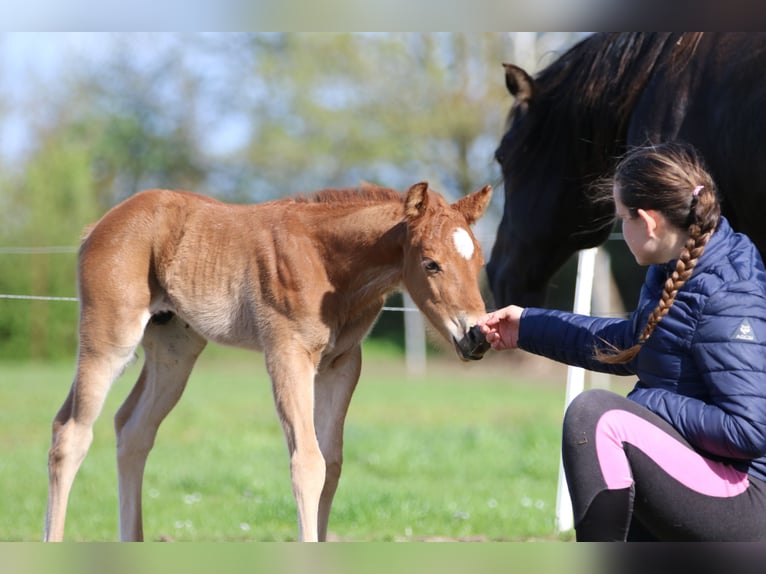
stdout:
{"type": "Polygon", "coordinates": [[[495,152],[505,208],[486,271],[498,307],[542,306],[551,277],[567,259],[606,240],[614,207],[588,198],[600,172],[592,142],[579,141],[574,122],[562,119],[560,100],[570,94],[553,97],[511,64],[505,79],[515,98],[495,152]]]}

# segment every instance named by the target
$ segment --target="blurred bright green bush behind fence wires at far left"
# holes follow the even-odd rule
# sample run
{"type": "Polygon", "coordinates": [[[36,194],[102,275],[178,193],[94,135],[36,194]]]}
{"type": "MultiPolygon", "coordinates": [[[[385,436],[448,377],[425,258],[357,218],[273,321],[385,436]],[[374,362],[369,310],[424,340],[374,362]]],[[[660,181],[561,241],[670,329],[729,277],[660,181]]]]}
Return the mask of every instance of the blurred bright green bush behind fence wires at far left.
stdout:
{"type": "MultiPolygon", "coordinates": [[[[54,131],[39,142],[23,177],[3,184],[4,248],[67,246],[99,210],[90,172],[90,149],[54,131]]],[[[0,254],[0,293],[71,297],[75,255],[69,250],[0,254]]],[[[70,356],[76,348],[77,305],[0,300],[0,357],[70,356]]]]}

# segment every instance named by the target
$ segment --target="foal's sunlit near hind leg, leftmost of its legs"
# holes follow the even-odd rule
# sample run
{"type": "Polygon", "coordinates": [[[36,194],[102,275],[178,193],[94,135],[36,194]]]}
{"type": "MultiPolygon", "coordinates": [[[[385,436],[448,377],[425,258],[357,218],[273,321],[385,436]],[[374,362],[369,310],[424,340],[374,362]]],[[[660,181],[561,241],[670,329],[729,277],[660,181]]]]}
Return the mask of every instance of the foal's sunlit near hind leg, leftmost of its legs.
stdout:
{"type": "Polygon", "coordinates": [[[74,382],[53,420],[48,452],[47,541],[63,540],[69,492],[93,441],[93,424],[112,382],[133,358],[147,318],[138,306],[102,313],[85,305],[81,311],[74,382]]]}

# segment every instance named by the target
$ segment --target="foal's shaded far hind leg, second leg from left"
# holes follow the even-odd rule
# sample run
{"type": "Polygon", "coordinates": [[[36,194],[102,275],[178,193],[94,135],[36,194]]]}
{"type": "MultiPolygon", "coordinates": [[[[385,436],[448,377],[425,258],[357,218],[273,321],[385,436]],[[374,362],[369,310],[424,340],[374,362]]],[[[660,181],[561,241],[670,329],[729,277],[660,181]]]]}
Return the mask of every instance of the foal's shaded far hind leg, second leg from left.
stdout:
{"type": "Polygon", "coordinates": [[[169,321],[152,319],[146,327],[144,367],[114,418],[123,541],[143,540],[141,492],[146,459],[160,423],[181,398],[206,343],[175,315],[169,321]]]}

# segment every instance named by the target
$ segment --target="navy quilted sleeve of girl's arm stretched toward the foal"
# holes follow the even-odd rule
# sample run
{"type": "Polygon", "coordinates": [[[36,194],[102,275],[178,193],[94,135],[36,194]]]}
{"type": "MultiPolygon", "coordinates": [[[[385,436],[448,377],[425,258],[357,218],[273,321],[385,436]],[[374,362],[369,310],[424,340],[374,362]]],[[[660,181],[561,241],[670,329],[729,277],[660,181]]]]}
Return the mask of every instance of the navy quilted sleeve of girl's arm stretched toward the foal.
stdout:
{"type": "Polygon", "coordinates": [[[521,316],[519,347],[567,365],[614,375],[635,374],[633,363],[606,365],[593,358],[605,342],[619,349],[633,345],[632,319],[578,315],[565,311],[527,308],[521,316]]]}

